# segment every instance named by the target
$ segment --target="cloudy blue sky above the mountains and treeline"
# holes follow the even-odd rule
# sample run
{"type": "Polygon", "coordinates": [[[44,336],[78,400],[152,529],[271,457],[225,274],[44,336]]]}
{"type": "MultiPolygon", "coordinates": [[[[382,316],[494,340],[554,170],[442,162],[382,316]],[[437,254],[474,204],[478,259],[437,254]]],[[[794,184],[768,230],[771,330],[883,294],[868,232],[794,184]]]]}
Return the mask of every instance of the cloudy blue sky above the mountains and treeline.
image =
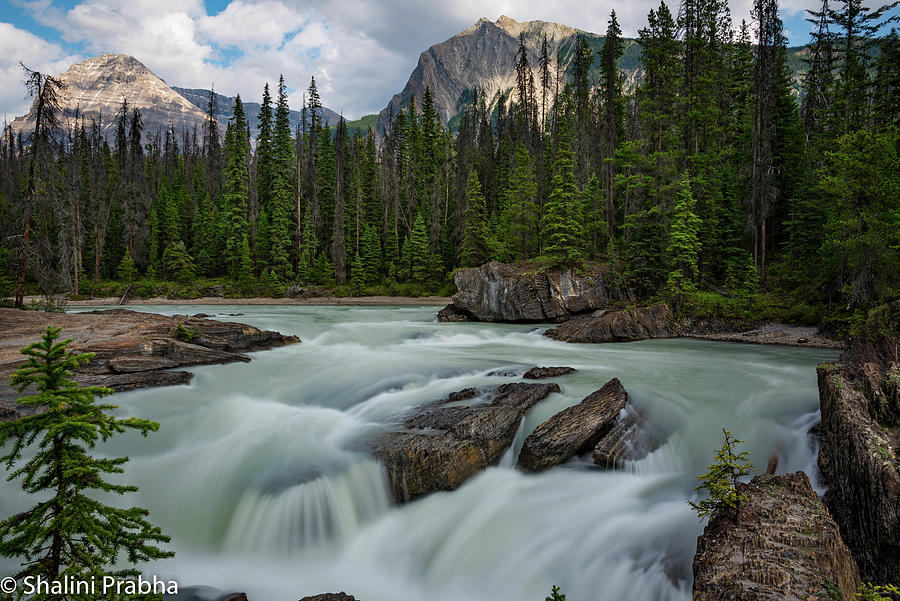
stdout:
{"type": "MultiPolygon", "coordinates": [[[[480,17],[556,21],[606,30],[615,8],[626,36],[658,0],[3,0],[0,111],[23,113],[22,70],[58,74],[104,52],[135,56],[170,85],[258,100],[283,73],[292,107],[316,77],[325,106],[357,118],[399,92],[419,53],[480,17]]],[[[730,0],[735,22],[751,0],[730,0]]],[[[677,0],[669,2],[670,6],[677,0]]],[[[790,41],[807,40],[803,11],[816,0],[782,0],[790,41]]],[[[675,9],[677,10],[677,9],[675,9]]]]}

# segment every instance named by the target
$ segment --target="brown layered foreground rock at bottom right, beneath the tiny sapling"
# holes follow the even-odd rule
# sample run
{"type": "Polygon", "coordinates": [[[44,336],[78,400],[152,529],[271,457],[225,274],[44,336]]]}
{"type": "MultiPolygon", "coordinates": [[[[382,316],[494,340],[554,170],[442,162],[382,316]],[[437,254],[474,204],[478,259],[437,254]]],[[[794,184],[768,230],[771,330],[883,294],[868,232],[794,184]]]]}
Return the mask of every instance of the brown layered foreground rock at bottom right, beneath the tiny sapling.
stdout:
{"type": "Polygon", "coordinates": [[[694,601],[806,601],[822,598],[826,583],[856,598],[856,564],[806,474],[738,487],[748,497],[738,523],[713,516],[697,540],[694,601]]]}

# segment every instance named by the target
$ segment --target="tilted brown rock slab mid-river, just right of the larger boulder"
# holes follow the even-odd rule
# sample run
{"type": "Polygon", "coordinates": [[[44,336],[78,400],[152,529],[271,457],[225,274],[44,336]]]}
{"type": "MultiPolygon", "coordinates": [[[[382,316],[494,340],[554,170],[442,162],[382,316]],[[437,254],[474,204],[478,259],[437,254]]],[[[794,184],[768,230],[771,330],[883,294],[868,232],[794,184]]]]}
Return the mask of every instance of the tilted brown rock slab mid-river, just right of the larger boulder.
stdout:
{"type": "Polygon", "coordinates": [[[525,439],[516,467],[539,472],[590,451],[613,427],[627,401],[622,383],[613,378],[538,426],[525,439]]]}

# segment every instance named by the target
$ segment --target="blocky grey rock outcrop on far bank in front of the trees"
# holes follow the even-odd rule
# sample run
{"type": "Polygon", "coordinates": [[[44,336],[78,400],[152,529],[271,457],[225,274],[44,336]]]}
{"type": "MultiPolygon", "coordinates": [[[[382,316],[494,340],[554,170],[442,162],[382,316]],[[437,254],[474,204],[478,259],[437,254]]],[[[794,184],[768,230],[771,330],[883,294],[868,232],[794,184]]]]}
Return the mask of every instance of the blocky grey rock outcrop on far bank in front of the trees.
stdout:
{"type": "MultiPolygon", "coordinates": [[[[602,271],[578,274],[554,268],[529,273],[514,265],[491,262],[460,269],[453,276],[457,293],[448,316],[471,315],[478,321],[548,322],[605,309],[627,297],[619,279],[602,271]]],[[[460,321],[460,319],[456,319],[460,321]]]]}

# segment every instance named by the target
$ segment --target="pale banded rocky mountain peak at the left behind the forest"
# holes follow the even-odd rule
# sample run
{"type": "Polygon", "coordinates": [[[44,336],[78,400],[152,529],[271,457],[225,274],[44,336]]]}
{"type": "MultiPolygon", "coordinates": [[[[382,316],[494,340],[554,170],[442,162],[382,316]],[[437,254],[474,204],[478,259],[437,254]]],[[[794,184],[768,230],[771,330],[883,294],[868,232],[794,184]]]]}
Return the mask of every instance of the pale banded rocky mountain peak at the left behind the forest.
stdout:
{"type": "MultiPolygon", "coordinates": [[[[173,125],[176,130],[202,127],[206,116],[166,82],[153,74],[133,56],[103,54],[76,63],[59,79],[66,84],[60,94],[61,122],[73,126],[76,113],[100,120],[104,135],[115,131],[116,115],[122,107],[122,99],[128,100],[129,109],[141,111],[144,132],[155,132],[173,125]]],[[[34,106],[10,127],[14,132],[34,130],[34,106]]]]}

